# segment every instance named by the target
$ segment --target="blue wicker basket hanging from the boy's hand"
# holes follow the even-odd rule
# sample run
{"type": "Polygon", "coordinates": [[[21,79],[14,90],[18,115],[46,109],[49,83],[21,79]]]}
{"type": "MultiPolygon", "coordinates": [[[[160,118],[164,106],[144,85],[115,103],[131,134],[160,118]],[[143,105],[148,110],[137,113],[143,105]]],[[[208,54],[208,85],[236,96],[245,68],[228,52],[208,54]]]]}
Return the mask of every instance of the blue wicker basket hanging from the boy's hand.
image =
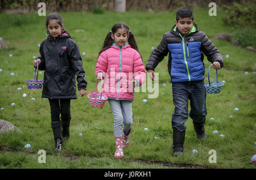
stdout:
{"type": "MultiPolygon", "coordinates": [[[[210,66],[212,66],[212,65],[210,65],[210,66]]],[[[224,83],[218,82],[218,71],[217,70],[216,70],[216,82],[210,82],[210,78],[209,78],[210,66],[208,69],[208,82],[209,83],[204,84],[204,87],[208,94],[218,94],[221,92],[221,89],[222,89],[222,86],[224,85],[224,83]]]]}

